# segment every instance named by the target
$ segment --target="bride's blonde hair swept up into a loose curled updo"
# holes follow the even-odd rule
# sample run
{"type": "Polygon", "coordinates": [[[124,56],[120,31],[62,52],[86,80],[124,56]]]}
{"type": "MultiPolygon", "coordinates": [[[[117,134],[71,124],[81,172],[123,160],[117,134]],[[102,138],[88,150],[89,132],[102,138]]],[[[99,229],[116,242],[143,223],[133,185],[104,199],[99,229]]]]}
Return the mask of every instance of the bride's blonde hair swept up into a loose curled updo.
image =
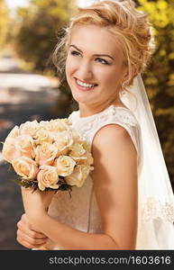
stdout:
{"type": "Polygon", "coordinates": [[[135,8],[132,0],[96,1],[96,4],[78,8],[78,13],[64,29],[65,35],[53,53],[53,63],[58,68],[60,77],[65,75],[65,62],[74,27],[78,24],[95,24],[113,33],[123,48],[128,76],[124,79],[121,90],[127,90],[126,87],[133,85],[133,67],[136,68],[136,73],[142,73],[155,49],[152,26],[147,16],[145,12],[135,8]]]}

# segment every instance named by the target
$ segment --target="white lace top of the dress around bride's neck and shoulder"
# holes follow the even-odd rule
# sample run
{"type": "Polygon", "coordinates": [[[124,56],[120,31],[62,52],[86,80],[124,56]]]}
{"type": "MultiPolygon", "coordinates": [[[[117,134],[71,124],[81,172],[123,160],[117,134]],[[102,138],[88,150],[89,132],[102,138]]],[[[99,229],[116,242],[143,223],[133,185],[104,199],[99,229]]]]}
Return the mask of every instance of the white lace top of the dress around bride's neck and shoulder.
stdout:
{"type": "Polygon", "coordinates": [[[96,114],[79,117],[79,111],[72,112],[69,115],[69,120],[72,121],[72,127],[78,130],[81,135],[87,139],[89,144],[92,146],[93,139],[98,130],[107,124],[119,124],[124,127],[129,133],[133,140],[133,145],[137,150],[138,158],[138,171],[141,172],[142,168],[142,142],[141,142],[141,130],[138,121],[129,109],[124,107],[118,107],[110,105],[103,112],[96,114]]]}

